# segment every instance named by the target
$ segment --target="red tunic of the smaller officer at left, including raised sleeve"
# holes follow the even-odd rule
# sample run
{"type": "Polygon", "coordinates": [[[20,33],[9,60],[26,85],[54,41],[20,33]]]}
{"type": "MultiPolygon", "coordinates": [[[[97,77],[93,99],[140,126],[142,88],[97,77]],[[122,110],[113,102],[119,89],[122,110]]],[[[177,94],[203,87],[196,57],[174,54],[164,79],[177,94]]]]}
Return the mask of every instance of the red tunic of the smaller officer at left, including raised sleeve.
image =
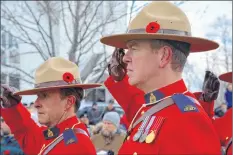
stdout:
{"type": "MultiPolygon", "coordinates": [[[[49,140],[44,138],[43,131],[47,128],[37,126],[31,119],[31,114],[21,103],[12,108],[1,108],[1,113],[25,154],[44,154],[46,148],[55,142],[56,138],[49,140]]],[[[66,128],[72,127],[82,129],[88,133],[85,125],[80,123],[76,116],[61,122],[57,127],[60,130],[60,134],[66,128]]],[[[89,136],[76,133],[76,137],[77,143],[66,145],[64,140],[62,140],[48,154],[96,154],[95,147],[89,136]]]]}

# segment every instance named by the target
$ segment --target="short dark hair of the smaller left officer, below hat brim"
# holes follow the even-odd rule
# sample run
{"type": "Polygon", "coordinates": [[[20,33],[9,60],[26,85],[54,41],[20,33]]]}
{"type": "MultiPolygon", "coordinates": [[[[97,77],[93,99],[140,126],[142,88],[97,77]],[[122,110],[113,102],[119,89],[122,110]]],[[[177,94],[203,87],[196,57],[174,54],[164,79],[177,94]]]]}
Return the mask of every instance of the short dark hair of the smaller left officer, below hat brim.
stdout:
{"type": "Polygon", "coordinates": [[[75,96],[76,100],[74,110],[77,112],[80,107],[80,102],[84,96],[84,90],[82,88],[61,88],[60,93],[62,99],[70,95],[75,96]]]}

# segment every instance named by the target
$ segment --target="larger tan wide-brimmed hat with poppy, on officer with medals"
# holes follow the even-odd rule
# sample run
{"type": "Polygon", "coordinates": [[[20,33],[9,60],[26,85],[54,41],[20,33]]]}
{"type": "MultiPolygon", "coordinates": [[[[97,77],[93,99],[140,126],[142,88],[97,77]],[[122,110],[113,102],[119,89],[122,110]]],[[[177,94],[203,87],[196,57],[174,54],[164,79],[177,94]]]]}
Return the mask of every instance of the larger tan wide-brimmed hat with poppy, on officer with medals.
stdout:
{"type": "Polygon", "coordinates": [[[191,44],[191,52],[214,50],[219,44],[204,38],[192,37],[191,26],[185,13],[167,1],[151,2],[131,21],[126,34],[101,38],[101,42],[127,49],[126,43],[138,39],[165,39],[191,44]]]}

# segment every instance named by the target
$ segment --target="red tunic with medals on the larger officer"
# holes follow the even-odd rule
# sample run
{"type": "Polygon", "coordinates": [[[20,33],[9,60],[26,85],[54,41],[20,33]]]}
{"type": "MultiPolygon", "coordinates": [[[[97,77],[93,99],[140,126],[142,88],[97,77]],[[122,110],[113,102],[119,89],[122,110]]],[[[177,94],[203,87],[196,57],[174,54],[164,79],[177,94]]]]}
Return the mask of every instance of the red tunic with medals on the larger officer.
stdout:
{"type": "MultiPolygon", "coordinates": [[[[146,94],[144,99],[144,93],[130,86],[127,80],[128,77],[121,82],[115,82],[109,77],[105,81],[105,86],[125,110],[131,122],[134,116],[134,120],[137,120],[154,104],[143,105],[144,101],[149,103],[147,100],[151,93],[146,94]]],[[[183,93],[195,98],[187,91],[183,80],[152,92],[152,96],[158,101],[175,93],[183,93]]],[[[194,100],[190,101],[194,102],[194,100]]],[[[182,104],[186,107],[191,102],[182,104]]],[[[139,123],[131,130],[119,154],[221,154],[220,142],[208,115],[196,100],[191,107],[184,111],[178,104],[173,104],[153,114],[151,118],[145,119],[144,123],[139,123]],[[148,120],[152,120],[152,117],[154,121],[150,123],[148,120]],[[155,133],[153,140],[151,142],[135,140],[137,133],[141,130],[145,132],[147,128],[149,128],[148,135],[151,132],[155,133]]]]}

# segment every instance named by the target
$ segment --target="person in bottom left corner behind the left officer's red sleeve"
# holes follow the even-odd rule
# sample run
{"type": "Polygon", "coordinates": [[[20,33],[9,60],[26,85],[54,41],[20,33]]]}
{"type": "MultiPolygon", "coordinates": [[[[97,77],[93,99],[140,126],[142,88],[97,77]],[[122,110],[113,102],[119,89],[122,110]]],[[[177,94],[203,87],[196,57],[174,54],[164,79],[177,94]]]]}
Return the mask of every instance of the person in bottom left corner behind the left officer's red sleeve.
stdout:
{"type": "Polygon", "coordinates": [[[4,119],[1,117],[1,155],[23,155],[23,151],[20,148],[18,142],[15,140],[14,136],[11,134],[9,126],[5,123],[4,119]]]}

